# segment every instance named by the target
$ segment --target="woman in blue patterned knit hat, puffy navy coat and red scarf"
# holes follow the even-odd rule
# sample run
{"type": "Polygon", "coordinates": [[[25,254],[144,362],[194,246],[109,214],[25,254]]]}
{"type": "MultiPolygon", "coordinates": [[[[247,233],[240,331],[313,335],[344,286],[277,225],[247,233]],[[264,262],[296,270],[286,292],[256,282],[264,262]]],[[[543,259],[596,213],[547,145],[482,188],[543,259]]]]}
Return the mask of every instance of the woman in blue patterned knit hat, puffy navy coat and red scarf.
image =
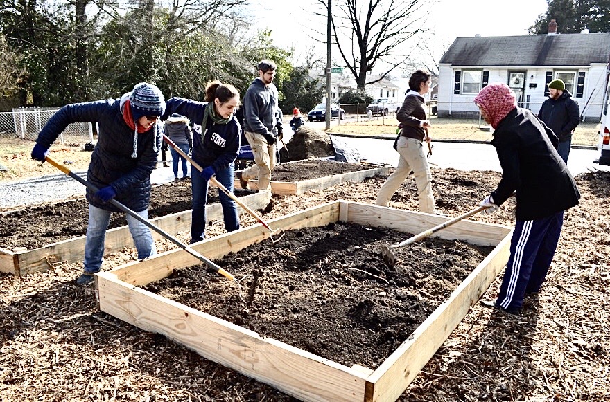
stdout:
{"type": "MultiPolygon", "coordinates": [[[[165,100],[157,86],[141,82],[119,99],[67,104],[44,125],[32,158],[44,162],[49,147],[73,122],[98,123],[98,142],[93,150],[87,181],[99,190],[87,188],[89,223],[85,242],[84,272],[78,284],[89,284],[100,271],[110,212],[120,212],[116,199],[148,219],[150,173],[157,165],[161,132],[157,119],[165,111],[165,100]]],[[[126,216],[138,251],[138,259],[156,253],[153,236],[146,225],[126,216]]]]}

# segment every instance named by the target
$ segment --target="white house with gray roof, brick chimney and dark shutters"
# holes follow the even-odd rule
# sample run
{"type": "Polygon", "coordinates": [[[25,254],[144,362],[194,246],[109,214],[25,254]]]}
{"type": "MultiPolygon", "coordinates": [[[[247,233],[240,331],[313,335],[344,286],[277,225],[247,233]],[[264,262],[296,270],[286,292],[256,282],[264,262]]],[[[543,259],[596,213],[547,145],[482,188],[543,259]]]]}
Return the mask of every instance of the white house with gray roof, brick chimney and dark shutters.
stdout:
{"type": "MultiPolygon", "coordinates": [[[[553,25],[554,24],[554,25],[553,25]]],[[[610,62],[610,33],[458,37],[439,63],[439,116],[478,117],[473,103],[489,82],[505,82],[519,106],[538,113],[547,84],[560,78],[584,120],[600,121],[610,62]]]]}

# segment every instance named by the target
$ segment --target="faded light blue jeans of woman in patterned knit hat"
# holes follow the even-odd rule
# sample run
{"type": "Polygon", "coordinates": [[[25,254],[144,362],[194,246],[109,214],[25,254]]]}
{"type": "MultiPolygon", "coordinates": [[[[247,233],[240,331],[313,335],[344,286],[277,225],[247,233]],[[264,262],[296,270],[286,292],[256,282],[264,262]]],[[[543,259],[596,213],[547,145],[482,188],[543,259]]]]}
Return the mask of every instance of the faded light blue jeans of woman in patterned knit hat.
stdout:
{"type": "MultiPolygon", "coordinates": [[[[148,219],[148,210],[137,212],[144,219],[148,219]]],[[[131,215],[127,215],[127,224],[138,250],[138,259],[144,259],[157,254],[153,235],[144,223],[131,215]]],[[[89,223],[87,224],[87,239],[85,240],[85,272],[96,273],[100,271],[104,258],[104,242],[106,230],[110,224],[110,211],[94,207],[89,204],[89,223]]]]}

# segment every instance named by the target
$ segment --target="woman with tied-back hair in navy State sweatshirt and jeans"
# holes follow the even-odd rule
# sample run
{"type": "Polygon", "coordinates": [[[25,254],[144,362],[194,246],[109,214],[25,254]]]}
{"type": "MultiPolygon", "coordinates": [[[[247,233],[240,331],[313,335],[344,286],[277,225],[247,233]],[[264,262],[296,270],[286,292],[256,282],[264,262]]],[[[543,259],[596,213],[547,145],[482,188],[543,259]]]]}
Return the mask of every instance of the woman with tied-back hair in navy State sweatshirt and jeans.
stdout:
{"type": "MultiPolygon", "coordinates": [[[[167,101],[166,116],[178,113],[186,116],[193,126],[193,161],[203,167],[201,174],[191,168],[193,190],[193,218],[191,220],[191,244],[204,238],[206,225],[208,181],[211,176],[233,191],[235,158],[241,142],[241,126],[234,116],[239,104],[239,93],[234,86],[220,81],[209,82],[205,89],[205,102],[184,98],[167,101]]],[[[239,229],[237,205],[227,194],[218,192],[223,205],[223,217],[227,232],[239,229]]]]}

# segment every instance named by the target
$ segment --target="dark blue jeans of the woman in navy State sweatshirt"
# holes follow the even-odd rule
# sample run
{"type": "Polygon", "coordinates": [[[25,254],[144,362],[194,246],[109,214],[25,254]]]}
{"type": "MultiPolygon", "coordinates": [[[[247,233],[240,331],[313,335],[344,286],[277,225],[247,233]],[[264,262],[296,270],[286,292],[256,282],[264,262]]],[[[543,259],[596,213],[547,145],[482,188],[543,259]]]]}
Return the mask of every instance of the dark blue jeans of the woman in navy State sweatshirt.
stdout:
{"type": "MultiPolygon", "coordinates": [[[[231,163],[226,169],[216,172],[216,180],[224,185],[227,190],[233,192],[233,181],[235,177],[235,167],[231,163]]],[[[207,190],[209,182],[204,181],[199,174],[191,174],[191,187],[193,189],[193,215],[191,219],[191,243],[202,241],[204,238],[205,226],[207,223],[205,205],[207,204],[207,190]]],[[[239,229],[237,218],[237,204],[222,190],[218,190],[220,205],[223,205],[223,217],[225,219],[225,229],[233,232],[239,229]]]]}

